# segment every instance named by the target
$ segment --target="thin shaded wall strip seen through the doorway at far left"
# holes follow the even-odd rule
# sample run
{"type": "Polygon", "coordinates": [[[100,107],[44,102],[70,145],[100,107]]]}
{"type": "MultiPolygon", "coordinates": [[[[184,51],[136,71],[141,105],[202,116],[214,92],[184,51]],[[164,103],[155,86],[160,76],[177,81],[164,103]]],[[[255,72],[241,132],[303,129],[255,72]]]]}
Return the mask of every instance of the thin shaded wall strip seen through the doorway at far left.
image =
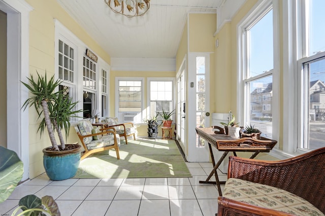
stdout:
{"type": "Polygon", "coordinates": [[[0,146],[7,147],[7,14],[0,11],[0,146]]]}

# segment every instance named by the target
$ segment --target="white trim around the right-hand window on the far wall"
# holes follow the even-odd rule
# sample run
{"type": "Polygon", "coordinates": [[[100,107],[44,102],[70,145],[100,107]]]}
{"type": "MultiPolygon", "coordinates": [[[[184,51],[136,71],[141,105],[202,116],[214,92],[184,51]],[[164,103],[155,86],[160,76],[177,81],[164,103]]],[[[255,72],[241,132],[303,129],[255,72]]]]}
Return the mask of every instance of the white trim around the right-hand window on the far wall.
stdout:
{"type": "MultiPolygon", "coordinates": [[[[150,82],[151,81],[172,81],[173,82],[173,108],[176,109],[176,79],[175,77],[148,77],[147,78],[147,107],[144,110],[145,119],[149,119],[150,116],[152,116],[152,113],[150,113],[150,82]]],[[[175,116],[173,118],[176,119],[175,116]]],[[[175,120],[174,119],[174,120],[175,120]]]]}

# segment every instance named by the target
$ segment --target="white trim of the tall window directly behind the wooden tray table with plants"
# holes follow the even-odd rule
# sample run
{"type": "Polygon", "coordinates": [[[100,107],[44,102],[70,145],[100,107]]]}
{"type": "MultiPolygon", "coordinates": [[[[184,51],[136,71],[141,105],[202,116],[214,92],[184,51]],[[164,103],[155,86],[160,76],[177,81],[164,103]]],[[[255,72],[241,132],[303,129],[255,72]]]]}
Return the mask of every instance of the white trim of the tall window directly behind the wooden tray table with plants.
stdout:
{"type": "MultiPolygon", "coordinates": [[[[244,82],[243,82],[243,71],[245,68],[247,68],[246,61],[243,59],[246,59],[246,50],[244,50],[244,41],[243,41],[243,34],[245,32],[245,27],[248,26],[248,24],[254,23],[254,20],[259,17],[261,14],[265,12],[266,9],[272,7],[273,10],[273,81],[272,81],[272,139],[275,139],[278,141],[277,145],[274,148],[279,148],[279,128],[280,128],[280,122],[279,122],[279,89],[280,89],[280,45],[279,45],[279,1],[278,0],[260,0],[258,1],[255,6],[247,13],[247,15],[238,23],[237,25],[237,48],[238,48],[238,54],[237,54],[237,113],[239,122],[246,122],[245,121],[245,109],[243,107],[246,107],[245,102],[245,95],[247,92],[244,90],[244,82]]],[[[263,74],[261,77],[267,76],[269,74],[263,74]]],[[[257,76],[256,76],[257,77],[257,76]]],[[[255,77],[255,78],[256,78],[255,77]]],[[[248,80],[248,79],[246,79],[248,80]]],[[[273,148],[273,149],[274,149],[273,148]]]]}

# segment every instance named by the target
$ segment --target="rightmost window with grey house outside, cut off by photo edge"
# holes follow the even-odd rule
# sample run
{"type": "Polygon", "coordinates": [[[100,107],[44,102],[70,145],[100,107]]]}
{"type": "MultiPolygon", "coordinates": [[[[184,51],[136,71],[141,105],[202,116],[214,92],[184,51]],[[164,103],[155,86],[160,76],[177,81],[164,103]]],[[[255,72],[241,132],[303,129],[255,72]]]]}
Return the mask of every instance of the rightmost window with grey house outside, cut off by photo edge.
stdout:
{"type": "Polygon", "coordinates": [[[301,70],[301,124],[298,130],[302,136],[298,148],[317,149],[324,147],[322,140],[325,139],[323,126],[325,125],[325,41],[323,35],[325,30],[325,14],[323,8],[325,2],[322,0],[310,0],[299,5],[298,10],[303,11],[302,20],[298,32],[303,46],[298,50],[298,68],[301,70]]]}

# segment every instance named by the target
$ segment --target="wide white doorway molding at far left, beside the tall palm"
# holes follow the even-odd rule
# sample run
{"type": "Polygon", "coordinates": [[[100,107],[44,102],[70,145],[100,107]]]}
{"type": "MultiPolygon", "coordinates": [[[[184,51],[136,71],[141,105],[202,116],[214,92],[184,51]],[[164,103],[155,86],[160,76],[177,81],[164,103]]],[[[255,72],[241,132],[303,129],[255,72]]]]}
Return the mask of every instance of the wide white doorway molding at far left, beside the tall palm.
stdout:
{"type": "Polygon", "coordinates": [[[28,98],[28,90],[20,81],[28,82],[29,12],[33,8],[23,0],[0,0],[0,10],[7,13],[8,23],[7,147],[14,150],[23,162],[24,173],[21,180],[24,181],[29,178],[29,121],[28,109],[24,111],[20,108],[28,98]]]}

